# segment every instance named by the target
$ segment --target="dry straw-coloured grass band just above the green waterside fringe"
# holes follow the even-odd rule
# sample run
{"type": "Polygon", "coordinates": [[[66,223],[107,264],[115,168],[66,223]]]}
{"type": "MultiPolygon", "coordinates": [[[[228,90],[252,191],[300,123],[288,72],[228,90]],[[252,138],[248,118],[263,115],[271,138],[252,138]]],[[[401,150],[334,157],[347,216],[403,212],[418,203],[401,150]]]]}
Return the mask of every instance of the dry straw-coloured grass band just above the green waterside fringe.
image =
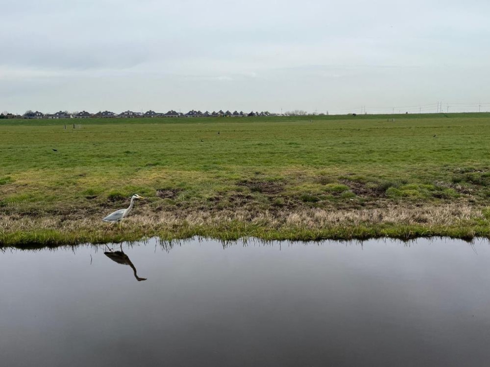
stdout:
{"type": "MultiPolygon", "coordinates": [[[[366,208],[350,210],[325,210],[319,208],[301,208],[290,211],[251,212],[244,209],[236,211],[195,211],[178,212],[144,212],[130,215],[122,226],[128,228],[158,230],[161,228],[220,227],[234,221],[254,226],[281,229],[284,227],[323,229],[339,226],[373,226],[373,225],[425,225],[459,226],[467,225],[476,219],[484,220],[482,208],[469,205],[446,204],[424,206],[396,206],[383,208],[366,208]]],[[[105,230],[109,226],[101,222],[99,216],[67,220],[65,216],[26,216],[10,214],[0,220],[0,232],[31,231],[38,229],[56,229],[63,232],[78,230],[105,230]]]]}

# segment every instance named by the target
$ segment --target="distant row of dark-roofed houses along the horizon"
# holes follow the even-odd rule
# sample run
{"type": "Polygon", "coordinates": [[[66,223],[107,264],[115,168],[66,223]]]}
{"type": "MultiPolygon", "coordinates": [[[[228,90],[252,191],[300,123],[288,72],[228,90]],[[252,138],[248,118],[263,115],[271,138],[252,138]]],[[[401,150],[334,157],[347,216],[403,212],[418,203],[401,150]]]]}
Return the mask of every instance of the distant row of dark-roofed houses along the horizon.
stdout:
{"type": "Polygon", "coordinates": [[[91,114],[87,111],[82,111],[82,112],[77,112],[74,114],[70,114],[68,112],[63,112],[59,111],[56,112],[55,114],[43,114],[42,112],[39,111],[27,111],[24,115],[19,116],[22,118],[91,118],[91,117],[102,117],[102,118],[111,118],[111,117],[219,117],[219,116],[226,116],[226,117],[248,117],[248,116],[270,116],[268,112],[250,112],[249,114],[243,112],[243,111],[226,111],[223,112],[222,110],[216,112],[201,112],[201,111],[195,111],[191,110],[187,114],[183,114],[181,112],[176,112],[176,111],[169,111],[167,113],[157,113],[155,111],[147,111],[145,113],[142,112],[133,112],[133,111],[124,111],[122,113],[115,114],[114,112],[111,111],[101,111],[98,112],[97,114],[91,114]]]}

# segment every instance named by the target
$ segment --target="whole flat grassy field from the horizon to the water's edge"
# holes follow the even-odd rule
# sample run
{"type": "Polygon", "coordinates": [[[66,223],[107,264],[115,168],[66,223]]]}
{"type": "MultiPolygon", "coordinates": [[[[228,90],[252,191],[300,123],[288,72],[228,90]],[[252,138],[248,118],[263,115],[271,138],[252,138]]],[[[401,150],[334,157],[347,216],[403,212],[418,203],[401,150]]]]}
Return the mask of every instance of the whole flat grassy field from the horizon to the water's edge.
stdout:
{"type": "Polygon", "coordinates": [[[0,120],[0,243],[488,236],[489,135],[489,114],[0,120]]]}

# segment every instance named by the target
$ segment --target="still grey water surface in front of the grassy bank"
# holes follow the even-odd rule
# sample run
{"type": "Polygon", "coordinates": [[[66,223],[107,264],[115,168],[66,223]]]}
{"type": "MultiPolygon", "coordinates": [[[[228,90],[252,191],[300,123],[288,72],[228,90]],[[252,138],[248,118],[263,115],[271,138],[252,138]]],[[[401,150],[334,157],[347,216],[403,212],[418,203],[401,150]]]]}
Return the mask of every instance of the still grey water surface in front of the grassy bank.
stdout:
{"type": "Polygon", "coordinates": [[[0,252],[0,365],[490,365],[488,242],[116,250],[0,252]]]}

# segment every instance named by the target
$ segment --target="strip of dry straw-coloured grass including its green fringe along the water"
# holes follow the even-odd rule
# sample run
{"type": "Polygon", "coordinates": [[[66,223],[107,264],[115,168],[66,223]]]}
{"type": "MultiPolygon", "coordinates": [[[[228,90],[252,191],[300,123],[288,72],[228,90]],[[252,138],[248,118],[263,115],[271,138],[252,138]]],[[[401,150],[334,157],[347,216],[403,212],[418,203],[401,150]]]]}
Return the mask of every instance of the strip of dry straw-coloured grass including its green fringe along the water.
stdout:
{"type": "Polygon", "coordinates": [[[118,226],[102,223],[99,216],[67,220],[62,215],[3,215],[0,244],[50,245],[82,242],[117,242],[161,236],[166,239],[196,235],[217,239],[249,236],[262,239],[350,239],[369,236],[404,237],[490,235],[484,208],[469,205],[386,206],[382,208],[251,211],[141,211],[118,226]]]}

